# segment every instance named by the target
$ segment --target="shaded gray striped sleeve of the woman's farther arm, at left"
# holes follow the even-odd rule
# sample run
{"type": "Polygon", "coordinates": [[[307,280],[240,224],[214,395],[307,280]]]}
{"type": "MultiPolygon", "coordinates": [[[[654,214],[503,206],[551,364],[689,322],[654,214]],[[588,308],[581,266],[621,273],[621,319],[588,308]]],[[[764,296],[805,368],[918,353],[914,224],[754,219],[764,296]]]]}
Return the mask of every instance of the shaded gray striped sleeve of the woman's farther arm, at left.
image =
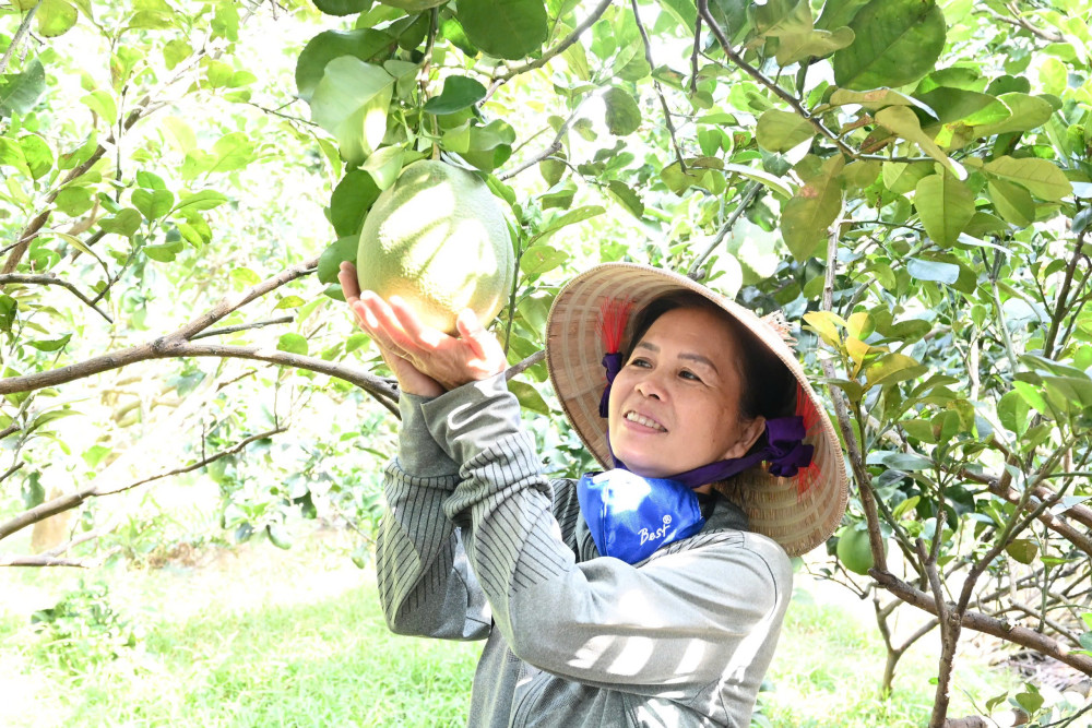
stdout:
{"type": "Polygon", "coordinates": [[[385,472],[376,542],[379,598],[393,632],[479,640],[489,634],[489,606],[443,513],[459,468],[428,433],[424,402],[405,393],[399,402],[399,454],[385,472]]]}

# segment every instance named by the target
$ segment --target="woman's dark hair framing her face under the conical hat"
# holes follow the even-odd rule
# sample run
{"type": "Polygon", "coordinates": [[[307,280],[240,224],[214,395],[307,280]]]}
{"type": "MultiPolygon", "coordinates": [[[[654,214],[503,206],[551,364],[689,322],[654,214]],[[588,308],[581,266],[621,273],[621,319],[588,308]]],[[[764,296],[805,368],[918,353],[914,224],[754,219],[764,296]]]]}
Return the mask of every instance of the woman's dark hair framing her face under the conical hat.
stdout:
{"type": "MultiPolygon", "coordinates": [[[[796,411],[796,378],[781,359],[765,345],[716,303],[700,294],[677,291],[653,299],[633,319],[633,335],[629,339],[624,361],[629,361],[633,348],[655,323],[656,319],[674,309],[701,309],[715,314],[732,332],[739,358],[735,361],[739,372],[739,418],[749,421],[762,416],[767,419],[788,417],[796,411]]],[[[765,438],[759,438],[759,445],[765,438]]]]}

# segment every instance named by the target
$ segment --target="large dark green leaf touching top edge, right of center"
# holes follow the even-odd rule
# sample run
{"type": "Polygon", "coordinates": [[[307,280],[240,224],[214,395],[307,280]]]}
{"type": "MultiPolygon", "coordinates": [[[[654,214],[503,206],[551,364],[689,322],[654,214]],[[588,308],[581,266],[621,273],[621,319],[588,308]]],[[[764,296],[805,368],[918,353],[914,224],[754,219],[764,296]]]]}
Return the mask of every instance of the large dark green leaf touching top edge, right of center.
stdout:
{"type": "Polygon", "coordinates": [[[871,0],[850,28],[855,39],[834,53],[834,82],[858,91],[924,76],[940,57],[948,29],[933,0],[871,0]]]}

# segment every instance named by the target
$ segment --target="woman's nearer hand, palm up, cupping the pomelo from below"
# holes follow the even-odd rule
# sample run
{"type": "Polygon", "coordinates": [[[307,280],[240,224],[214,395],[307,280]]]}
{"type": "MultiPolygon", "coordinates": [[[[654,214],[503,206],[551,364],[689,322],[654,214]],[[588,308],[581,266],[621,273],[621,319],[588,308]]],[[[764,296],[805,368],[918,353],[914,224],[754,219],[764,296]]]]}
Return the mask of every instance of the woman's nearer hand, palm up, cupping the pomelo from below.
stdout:
{"type": "Polygon", "coordinates": [[[444,390],[488,379],[508,366],[500,342],[482,327],[470,309],[463,310],[455,321],[456,338],[426,326],[397,296],[384,301],[373,291],[365,290],[360,294],[360,305],[376,343],[410,361],[444,390]]]}

